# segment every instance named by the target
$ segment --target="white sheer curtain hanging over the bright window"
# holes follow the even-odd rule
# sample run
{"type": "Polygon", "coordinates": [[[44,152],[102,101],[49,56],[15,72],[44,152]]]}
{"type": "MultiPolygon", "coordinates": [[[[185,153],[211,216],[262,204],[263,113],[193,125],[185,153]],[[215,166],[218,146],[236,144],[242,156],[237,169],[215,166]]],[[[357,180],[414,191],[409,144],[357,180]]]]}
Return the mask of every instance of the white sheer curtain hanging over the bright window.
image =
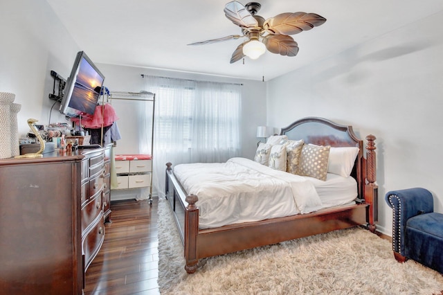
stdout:
{"type": "Polygon", "coordinates": [[[165,194],[167,162],[224,162],[240,154],[241,85],[144,79],[145,90],[156,97],[153,181],[159,196],[165,194]]]}

